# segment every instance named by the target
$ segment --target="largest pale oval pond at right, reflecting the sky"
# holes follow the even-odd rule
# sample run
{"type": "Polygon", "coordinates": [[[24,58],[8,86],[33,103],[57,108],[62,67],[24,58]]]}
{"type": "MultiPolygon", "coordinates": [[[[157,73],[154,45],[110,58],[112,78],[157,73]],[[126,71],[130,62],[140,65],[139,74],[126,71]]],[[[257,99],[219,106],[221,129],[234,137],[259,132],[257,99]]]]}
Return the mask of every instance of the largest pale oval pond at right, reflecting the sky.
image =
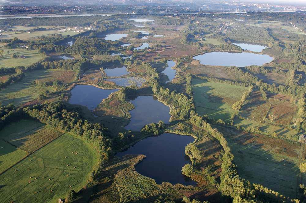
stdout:
{"type": "Polygon", "coordinates": [[[229,53],[229,52],[210,52],[193,57],[203,65],[209,66],[262,66],[273,61],[273,57],[263,54],[253,53],[229,53]]]}

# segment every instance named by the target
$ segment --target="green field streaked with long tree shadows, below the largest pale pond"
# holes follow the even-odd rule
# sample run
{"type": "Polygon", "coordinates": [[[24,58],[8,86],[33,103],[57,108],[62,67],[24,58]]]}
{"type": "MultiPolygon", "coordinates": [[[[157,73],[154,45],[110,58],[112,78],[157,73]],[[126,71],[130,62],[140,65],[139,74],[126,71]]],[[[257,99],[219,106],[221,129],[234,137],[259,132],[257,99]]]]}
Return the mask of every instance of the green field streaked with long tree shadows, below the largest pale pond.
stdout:
{"type": "Polygon", "coordinates": [[[247,87],[200,79],[192,80],[196,112],[214,119],[228,121],[233,114],[231,106],[239,101],[247,87]]]}

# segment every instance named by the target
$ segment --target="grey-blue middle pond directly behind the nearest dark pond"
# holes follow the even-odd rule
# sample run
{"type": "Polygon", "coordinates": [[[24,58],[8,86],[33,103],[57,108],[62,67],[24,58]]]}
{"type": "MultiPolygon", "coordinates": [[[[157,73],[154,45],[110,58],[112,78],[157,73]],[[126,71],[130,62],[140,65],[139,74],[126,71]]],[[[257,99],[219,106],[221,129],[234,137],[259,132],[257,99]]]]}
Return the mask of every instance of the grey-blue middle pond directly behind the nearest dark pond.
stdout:
{"type": "Polygon", "coordinates": [[[157,101],[157,97],[139,96],[130,102],[135,106],[135,109],[130,111],[131,121],[129,125],[125,126],[125,129],[140,131],[145,125],[158,123],[160,120],[169,123],[170,108],[157,101]]]}

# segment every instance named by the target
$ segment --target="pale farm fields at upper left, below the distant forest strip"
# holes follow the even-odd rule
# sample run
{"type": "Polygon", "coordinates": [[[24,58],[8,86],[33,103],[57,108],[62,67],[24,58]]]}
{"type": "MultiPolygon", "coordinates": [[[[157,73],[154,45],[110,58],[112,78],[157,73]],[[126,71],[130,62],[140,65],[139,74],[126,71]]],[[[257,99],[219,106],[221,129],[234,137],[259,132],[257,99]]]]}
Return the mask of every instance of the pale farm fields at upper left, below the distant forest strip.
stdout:
{"type": "MultiPolygon", "coordinates": [[[[31,29],[35,28],[31,27],[31,29]]],[[[34,32],[23,32],[23,31],[7,31],[7,32],[2,32],[2,39],[13,39],[14,37],[17,37],[18,39],[21,40],[36,40],[35,37],[41,37],[41,36],[50,36],[51,34],[62,34],[63,36],[70,35],[73,36],[75,34],[79,34],[79,32],[74,32],[74,31],[65,31],[64,26],[38,26],[38,27],[46,27],[47,30],[43,31],[34,31],[34,32]],[[50,29],[49,29],[50,28],[50,29]]],[[[16,28],[14,28],[16,29],[16,28]]],[[[17,29],[28,29],[28,27],[22,27],[18,26],[17,29]]]]}

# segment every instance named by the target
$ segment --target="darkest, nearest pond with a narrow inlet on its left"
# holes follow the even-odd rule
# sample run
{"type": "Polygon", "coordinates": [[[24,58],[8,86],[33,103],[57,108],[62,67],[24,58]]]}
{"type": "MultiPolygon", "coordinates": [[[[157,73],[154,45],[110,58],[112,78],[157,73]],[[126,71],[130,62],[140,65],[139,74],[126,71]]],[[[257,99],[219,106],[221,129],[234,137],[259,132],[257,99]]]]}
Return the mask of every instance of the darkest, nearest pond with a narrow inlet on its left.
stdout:
{"type": "Polygon", "coordinates": [[[182,174],[182,167],[191,163],[185,155],[185,147],[194,141],[191,136],[164,133],[147,137],[119,152],[117,156],[126,154],[143,154],[147,157],[135,166],[138,173],[153,178],[157,184],[170,182],[183,185],[196,185],[196,182],[182,174]]]}

